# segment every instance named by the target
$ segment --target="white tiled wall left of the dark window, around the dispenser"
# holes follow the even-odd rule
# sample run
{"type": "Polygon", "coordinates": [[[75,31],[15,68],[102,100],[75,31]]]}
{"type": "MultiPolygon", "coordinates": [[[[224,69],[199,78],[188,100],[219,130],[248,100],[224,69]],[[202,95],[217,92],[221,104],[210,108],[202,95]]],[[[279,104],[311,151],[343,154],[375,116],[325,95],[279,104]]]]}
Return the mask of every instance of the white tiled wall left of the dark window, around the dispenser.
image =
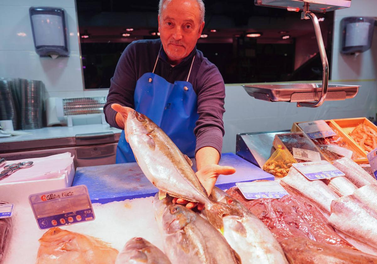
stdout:
{"type": "Polygon", "coordinates": [[[75,0],[2,0],[0,1],[0,77],[41,80],[49,93],[65,97],[83,95],[78,24],[75,0]],[[69,57],[40,57],[35,53],[29,8],[64,8],[67,15],[69,57]],[[26,36],[19,36],[23,32],[26,36]]]}

